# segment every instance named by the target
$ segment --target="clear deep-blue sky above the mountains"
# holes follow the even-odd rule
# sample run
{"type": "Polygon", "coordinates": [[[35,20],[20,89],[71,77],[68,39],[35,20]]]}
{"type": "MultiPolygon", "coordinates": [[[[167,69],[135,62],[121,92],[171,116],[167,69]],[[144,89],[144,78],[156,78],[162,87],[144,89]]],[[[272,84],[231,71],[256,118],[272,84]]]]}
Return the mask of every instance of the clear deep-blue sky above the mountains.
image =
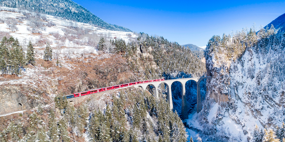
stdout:
{"type": "Polygon", "coordinates": [[[74,1],[110,24],[197,46],[253,22],[259,30],[285,13],[284,1],[74,1]]]}

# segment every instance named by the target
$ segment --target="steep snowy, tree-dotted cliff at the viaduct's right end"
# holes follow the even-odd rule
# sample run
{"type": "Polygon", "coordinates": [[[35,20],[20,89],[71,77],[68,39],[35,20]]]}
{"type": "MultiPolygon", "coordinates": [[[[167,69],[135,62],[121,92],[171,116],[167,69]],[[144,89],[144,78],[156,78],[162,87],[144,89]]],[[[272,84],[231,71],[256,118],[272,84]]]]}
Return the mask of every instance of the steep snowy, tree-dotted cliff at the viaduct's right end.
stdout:
{"type": "Polygon", "coordinates": [[[212,80],[199,114],[204,131],[251,141],[255,124],[275,131],[284,122],[284,36],[260,31],[210,39],[205,57],[212,80]]]}

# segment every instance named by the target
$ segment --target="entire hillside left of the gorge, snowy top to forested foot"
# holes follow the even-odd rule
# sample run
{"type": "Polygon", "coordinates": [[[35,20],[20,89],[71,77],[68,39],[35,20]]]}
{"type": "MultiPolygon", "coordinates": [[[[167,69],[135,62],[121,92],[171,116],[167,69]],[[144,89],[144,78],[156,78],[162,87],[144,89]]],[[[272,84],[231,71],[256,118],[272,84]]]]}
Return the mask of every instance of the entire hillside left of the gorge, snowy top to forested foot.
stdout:
{"type": "MultiPolygon", "coordinates": [[[[165,84],[158,88],[159,99],[154,99],[152,86],[149,91],[128,88],[89,97],[77,105],[62,96],[141,80],[205,76],[205,63],[190,49],[163,37],[8,7],[0,8],[0,37],[0,114],[21,110],[0,115],[1,141],[93,142],[105,132],[118,142],[186,141],[179,112],[169,111],[166,103],[165,84]],[[44,60],[49,45],[52,58],[44,60]],[[31,46],[33,64],[27,60],[31,46]],[[28,79],[18,80],[23,78],[28,79]]],[[[188,91],[187,101],[195,110],[192,94],[188,91]]],[[[173,100],[181,109],[179,90],[173,91],[173,100]]]]}

